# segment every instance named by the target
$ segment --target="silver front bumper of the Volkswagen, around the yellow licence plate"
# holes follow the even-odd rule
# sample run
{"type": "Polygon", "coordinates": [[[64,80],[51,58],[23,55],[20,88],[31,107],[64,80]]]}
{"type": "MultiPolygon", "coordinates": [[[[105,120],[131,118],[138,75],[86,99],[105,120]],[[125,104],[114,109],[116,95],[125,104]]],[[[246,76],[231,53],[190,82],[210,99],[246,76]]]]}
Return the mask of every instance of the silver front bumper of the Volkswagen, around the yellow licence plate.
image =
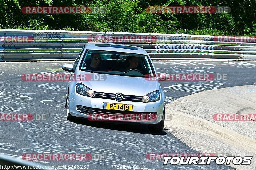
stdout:
{"type": "MultiPolygon", "coordinates": [[[[129,112],[131,114],[141,114],[140,119],[122,119],[122,122],[125,123],[139,123],[139,124],[157,124],[161,121],[163,116],[163,110],[164,110],[164,99],[161,97],[159,101],[156,102],[131,102],[131,101],[115,101],[110,99],[102,99],[102,98],[94,98],[94,97],[87,97],[82,96],[80,94],[77,94],[74,92],[73,94],[69,93],[69,112],[72,116],[75,117],[82,117],[82,118],[89,118],[90,116],[99,116],[99,112],[103,113],[106,111],[106,113],[111,113],[112,111],[120,116],[120,114],[123,114],[124,112],[120,111],[120,113],[116,110],[106,110],[103,109],[103,103],[117,103],[117,104],[131,104],[133,105],[133,111],[129,112]],[[80,113],[77,110],[77,106],[84,106],[86,107],[87,111],[86,113],[80,113]],[[147,114],[149,113],[156,113],[156,118],[150,120],[145,119],[147,117],[147,114]],[[143,118],[144,117],[144,118],[143,118]]],[[[127,111],[125,112],[127,113],[127,111]]],[[[112,114],[112,113],[111,113],[112,114]]],[[[112,114],[113,115],[113,114],[112,114]]],[[[93,119],[95,120],[95,119],[93,119]]],[[[99,120],[99,119],[97,119],[99,120]]],[[[114,122],[116,122],[116,119],[114,119],[114,122]]]]}

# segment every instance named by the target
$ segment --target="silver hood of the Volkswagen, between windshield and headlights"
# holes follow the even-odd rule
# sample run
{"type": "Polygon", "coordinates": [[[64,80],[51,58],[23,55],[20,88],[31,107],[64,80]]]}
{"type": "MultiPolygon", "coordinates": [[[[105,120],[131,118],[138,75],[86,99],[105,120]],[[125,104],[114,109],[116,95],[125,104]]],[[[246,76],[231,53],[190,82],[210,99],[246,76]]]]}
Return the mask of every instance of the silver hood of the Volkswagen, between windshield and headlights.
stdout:
{"type": "MultiPolygon", "coordinates": [[[[93,77],[93,74],[97,73],[79,71],[79,74],[91,74],[91,77],[93,77]]],[[[157,80],[149,81],[144,77],[128,77],[110,74],[104,74],[104,76],[104,81],[81,81],[81,83],[96,92],[122,93],[123,95],[144,96],[156,90],[157,80]]]]}

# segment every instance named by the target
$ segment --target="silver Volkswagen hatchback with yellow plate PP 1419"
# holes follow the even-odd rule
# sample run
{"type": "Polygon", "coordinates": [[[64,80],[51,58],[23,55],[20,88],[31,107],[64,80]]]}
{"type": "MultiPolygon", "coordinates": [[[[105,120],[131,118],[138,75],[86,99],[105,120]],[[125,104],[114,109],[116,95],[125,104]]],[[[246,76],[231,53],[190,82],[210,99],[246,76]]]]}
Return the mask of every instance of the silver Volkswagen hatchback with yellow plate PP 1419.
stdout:
{"type": "Polygon", "coordinates": [[[148,53],[135,46],[86,43],[69,72],[67,119],[148,124],[164,127],[164,92],[148,53]]]}

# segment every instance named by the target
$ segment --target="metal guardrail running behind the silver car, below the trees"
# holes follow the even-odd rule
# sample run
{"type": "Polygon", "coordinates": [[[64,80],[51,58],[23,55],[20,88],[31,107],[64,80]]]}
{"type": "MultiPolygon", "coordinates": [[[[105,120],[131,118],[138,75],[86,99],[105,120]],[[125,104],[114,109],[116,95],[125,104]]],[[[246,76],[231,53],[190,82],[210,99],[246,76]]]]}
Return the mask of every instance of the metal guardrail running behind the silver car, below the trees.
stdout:
{"type": "Polygon", "coordinates": [[[152,60],[256,60],[256,43],[220,42],[216,41],[216,36],[207,35],[0,29],[0,37],[0,61],[74,60],[85,43],[102,40],[92,37],[118,37],[118,41],[112,43],[142,47],[152,60]],[[14,40],[3,40],[8,36],[14,40]],[[31,39],[17,41],[15,36],[31,39]],[[127,42],[125,36],[135,38],[127,42]],[[143,37],[147,42],[141,39],[143,37]]]}

